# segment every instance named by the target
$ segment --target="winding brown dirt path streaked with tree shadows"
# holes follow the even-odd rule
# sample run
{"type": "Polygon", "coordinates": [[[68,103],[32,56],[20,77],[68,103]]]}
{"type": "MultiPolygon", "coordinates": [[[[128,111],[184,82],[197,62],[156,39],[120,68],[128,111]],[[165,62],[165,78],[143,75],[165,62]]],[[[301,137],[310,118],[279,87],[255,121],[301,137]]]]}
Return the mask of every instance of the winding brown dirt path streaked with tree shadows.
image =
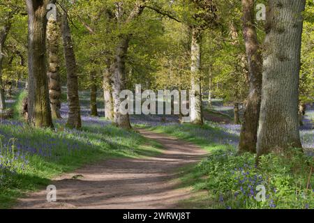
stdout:
{"type": "Polygon", "coordinates": [[[206,152],[163,134],[140,132],[163,144],[158,157],[114,159],[91,164],[52,181],[57,202],[46,201],[45,190],[28,194],[16,208],[177,208],[190,197],[188,189],[176,189],[176,170],[199,161],[206,152]],[[73,176],[82,178],[73,179],[73,176]]]}

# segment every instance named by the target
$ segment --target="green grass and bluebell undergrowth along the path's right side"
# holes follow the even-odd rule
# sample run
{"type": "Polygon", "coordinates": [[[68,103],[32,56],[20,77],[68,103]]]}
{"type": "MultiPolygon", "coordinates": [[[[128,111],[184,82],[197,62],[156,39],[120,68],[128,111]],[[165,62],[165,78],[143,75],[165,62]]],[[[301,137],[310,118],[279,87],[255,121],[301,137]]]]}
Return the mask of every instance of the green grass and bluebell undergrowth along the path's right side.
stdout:
{"type": "Polygon", "coordinates": [[[150,130],[209,151],[200,164],[179,170],[180,187],[192,187],[194,192],[190,199],[181,201],[180,208],[314,208],[314,160],[302,151],[292,148],[285,153],[265,155],[257,168],[255,155],[239,155],[232,146],[239,136],[214,123],[201,127],[166,125],[150,130]],[[266,189],[262,202],[256,199],[259,185],[266,189]]]}

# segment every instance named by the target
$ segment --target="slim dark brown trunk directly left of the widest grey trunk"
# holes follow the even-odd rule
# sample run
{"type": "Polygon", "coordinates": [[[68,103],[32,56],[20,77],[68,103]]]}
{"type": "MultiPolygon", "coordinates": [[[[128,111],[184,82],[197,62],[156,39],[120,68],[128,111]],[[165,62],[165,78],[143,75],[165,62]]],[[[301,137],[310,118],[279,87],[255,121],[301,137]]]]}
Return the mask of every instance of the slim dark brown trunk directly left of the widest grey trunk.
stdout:
{"type": "Polygon", "coordinates": [[[246,109],[241,128],[239,151],[256,153],[257,128],[260,118],[262,95],[262,54],[254,26],[254,0],[242,0],[244,16],[243,33],[248,60],[248,82],[250,84],[246,109]]]}

